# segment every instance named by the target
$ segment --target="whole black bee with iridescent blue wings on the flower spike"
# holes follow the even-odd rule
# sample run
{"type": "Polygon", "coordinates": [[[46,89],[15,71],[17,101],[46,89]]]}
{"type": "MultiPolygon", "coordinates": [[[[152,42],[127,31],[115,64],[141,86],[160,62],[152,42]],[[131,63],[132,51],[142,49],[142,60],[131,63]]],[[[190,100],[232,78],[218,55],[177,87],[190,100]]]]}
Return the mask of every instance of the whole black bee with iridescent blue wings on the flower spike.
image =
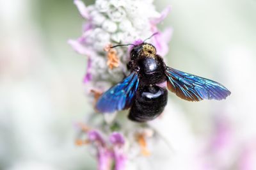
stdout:
{"type": "MultiPolygon", "coordinates": [[[[122,45],[114,47],[118,46],[122,45]]],[[[157,86],[165,81],[170,91],[188,101],[222,100],[230,95],[230,91],[218,82],[166,66],[163,58],[157,55],[156,47],[145,41],[133,45],[130,57],[127,68],[131,73],[102,94],[96,104],[98,111],[109,113],[131,108],[130,120],[154,120],[167,104],[166,88],[157,86]]]]}

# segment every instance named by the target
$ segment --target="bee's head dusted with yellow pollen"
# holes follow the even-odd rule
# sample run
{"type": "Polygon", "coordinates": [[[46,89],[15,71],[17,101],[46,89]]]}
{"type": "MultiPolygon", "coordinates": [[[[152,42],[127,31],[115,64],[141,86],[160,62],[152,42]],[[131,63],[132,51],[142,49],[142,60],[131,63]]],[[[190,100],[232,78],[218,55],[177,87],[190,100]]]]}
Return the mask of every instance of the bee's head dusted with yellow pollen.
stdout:
{"type": "Polygon", "coordinates": [[[130,56],[131,59],[136,59],[140,56],[154,57],[156,56],[156,48],[150,43],[141,43],[132,48],[130,56]]]}

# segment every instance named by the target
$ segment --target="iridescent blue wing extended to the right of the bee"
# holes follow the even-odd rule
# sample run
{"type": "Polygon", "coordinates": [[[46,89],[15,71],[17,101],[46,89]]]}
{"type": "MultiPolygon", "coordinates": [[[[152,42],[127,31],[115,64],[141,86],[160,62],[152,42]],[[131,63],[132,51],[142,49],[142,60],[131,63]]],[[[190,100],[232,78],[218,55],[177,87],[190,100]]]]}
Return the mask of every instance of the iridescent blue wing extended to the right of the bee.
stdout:
{"type": "Polygon", "coordinates": [[[221,100],[230,95],[230,91],[218,82],[181,72],[168,66],[165,73],[168,89],[185,100],[221,100]]]}

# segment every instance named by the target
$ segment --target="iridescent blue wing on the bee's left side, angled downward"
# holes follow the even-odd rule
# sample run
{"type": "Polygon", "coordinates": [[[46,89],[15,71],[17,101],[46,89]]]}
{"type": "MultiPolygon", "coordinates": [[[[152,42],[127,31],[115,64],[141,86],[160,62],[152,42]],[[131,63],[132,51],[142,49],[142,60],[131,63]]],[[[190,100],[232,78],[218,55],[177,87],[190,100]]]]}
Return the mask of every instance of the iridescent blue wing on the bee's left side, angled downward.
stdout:
{"type": "Polygon", "coordinates": [[[100,112],[115,112],[131,107],[138,85],[138,73],[132,72],[122,82],[103,93],[97,101],[96,109],[100,112]]]}

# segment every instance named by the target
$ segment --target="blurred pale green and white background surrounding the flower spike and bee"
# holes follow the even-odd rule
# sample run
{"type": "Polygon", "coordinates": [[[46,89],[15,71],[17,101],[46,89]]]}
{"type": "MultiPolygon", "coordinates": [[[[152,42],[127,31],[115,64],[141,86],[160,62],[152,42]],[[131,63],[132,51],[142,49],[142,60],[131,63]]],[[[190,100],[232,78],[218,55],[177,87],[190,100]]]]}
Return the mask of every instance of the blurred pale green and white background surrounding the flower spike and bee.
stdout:
{"type": "MultiPolygon", "coordinates": [[[[155,4],[158,11],[172,5],[161,25],[173,28],[168,65],[232,91],[221,102],[169,95],[202,142],[196,144],[210,143],[198,159],[206,158],[209,167],[219,164],[212,169],[243,169],[246,162],[253,168],[256,1],[155,4]]],[[[67,44],[81,35],[82,22],[71,0],[0,0],[0,169],[95,169],[88,150],[74,144],[74,122],[92,111],[82,83],[86,57],[67,44]]]]}

